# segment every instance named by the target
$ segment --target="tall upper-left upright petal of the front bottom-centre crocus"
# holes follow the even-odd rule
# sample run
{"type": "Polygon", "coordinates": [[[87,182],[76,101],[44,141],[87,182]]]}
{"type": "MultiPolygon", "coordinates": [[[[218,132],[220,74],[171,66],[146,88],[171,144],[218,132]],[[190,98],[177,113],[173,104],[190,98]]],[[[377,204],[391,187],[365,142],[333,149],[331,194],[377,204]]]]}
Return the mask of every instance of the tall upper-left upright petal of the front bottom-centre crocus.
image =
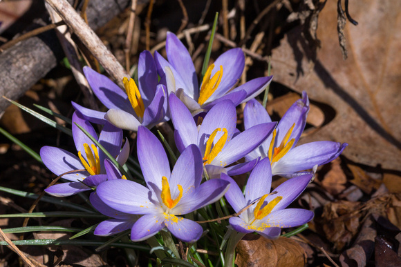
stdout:
{"type": "Polygon", "coordinates": [[[153,190],[161,190],[162,177],[170,177],[169,159],[165,149],[158,138],[143,126],[138,129],[137,146],[144,180],[153,190]]]}

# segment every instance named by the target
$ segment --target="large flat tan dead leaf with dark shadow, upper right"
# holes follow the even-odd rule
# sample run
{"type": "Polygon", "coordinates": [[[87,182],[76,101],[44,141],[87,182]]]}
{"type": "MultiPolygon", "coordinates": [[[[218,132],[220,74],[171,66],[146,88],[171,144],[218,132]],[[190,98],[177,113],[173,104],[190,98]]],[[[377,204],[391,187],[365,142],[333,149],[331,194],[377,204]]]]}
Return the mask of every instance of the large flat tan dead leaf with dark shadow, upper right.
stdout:
{"type": "Polygon", "coordinates": [[[401,1],[350,1],[360,24],[345,28],[348,59],[337,36],[337,1],[319,14],[317,61],[301,28],[288,32],[272,51],[274,81],[332,106],[333,121],[301,140],[348,142],[344,155],[355,162],[401,170],[401,1]]]}

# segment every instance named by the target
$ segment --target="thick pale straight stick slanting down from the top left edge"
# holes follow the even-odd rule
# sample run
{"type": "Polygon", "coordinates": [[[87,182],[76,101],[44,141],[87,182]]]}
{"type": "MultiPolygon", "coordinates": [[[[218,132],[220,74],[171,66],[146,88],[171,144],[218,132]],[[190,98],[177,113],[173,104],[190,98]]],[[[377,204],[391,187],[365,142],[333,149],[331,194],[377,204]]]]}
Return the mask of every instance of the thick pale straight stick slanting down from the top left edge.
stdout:
{"type": "Polygon", "coordinates": [[[77,34],[77,37],[79,37],[86,48],[92,52],[100,64],[102,64],[103,68],[109,72],[109,75],[114,81],[118,83],[121,88],[124,88],[122,78],[128,77],[127,72],[125,72],[124,68],[122,68],[113,54],[104,46],[102,40],[89,28],[73,7],[66,0],[46,1],[59,13],[68,27],[77,34]]]}

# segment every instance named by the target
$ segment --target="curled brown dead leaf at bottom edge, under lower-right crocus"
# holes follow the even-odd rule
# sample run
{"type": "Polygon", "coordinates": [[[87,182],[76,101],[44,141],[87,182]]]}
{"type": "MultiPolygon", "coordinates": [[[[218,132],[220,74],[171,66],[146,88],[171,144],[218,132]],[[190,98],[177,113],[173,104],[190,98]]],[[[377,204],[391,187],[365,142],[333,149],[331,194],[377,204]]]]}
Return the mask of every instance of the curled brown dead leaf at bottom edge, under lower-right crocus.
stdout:
{"type": "Polygon", "coordinates": [[[236,246],[238,266],[304,266],[306,253],[297,241],[286,237],[271,240],[248,234],[236,246]]]}

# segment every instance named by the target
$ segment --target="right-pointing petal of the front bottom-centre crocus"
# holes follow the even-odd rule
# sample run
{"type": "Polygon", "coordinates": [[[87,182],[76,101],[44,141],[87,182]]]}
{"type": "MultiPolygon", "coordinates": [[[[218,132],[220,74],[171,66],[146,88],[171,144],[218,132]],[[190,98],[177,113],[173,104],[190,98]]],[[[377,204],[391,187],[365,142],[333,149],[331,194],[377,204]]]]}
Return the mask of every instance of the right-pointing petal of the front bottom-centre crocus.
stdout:
{"type": "Polygon", "coordinates": [[[229,187],[230,183],[222,179],[205,181],[195,189],[193,194],[183,195],[183,198],[180,199],[177,206],[171,212],[174,212],[175,215],[187,214],[198,208],[212,204],[221,199],[229,187]]]}

